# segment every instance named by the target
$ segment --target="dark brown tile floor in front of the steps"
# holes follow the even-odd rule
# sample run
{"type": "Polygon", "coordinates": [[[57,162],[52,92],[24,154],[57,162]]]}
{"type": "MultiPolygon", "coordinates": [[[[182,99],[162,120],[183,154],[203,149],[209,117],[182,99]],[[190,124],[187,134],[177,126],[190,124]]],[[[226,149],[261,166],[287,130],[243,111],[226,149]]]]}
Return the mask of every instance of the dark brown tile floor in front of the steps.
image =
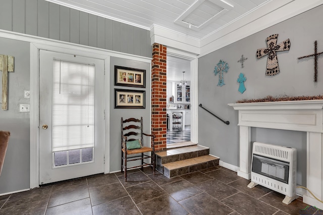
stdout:
{"type": "Polygon", "coordinates": [[[95,175],[0,196],[0,214],[323,214],[289,205],[267,188],[248,188],[233,171],[212,167],[168,179],[150,168],[95,175]]]}

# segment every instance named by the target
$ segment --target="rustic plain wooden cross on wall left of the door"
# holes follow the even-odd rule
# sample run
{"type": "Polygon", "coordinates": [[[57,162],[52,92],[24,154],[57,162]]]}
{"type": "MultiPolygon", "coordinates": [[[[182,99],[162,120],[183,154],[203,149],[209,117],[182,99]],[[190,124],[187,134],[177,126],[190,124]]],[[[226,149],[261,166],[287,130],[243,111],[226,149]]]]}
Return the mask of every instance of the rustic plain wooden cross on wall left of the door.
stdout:
{"type": "Polygon", "coordinates": [[[0,55],[0,71],[2,70],[2,110],[8,110],[8,72],[14,72],[14,57],[0,55]]]}

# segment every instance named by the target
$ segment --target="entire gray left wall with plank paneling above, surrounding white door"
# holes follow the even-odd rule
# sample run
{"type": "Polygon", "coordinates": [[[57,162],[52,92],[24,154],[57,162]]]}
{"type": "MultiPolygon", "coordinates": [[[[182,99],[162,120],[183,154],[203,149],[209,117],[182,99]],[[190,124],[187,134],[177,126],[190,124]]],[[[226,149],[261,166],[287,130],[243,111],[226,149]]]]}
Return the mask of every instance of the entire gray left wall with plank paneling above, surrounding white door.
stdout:
{"type": "MultiPolygon", "coordinates": [[[[1,4],[0,29],[151,57],[150,32],[147,30],[48,3],[44,0],[6,0],[1,4]]],[[[3,172],[0,176],[1,195],[1,193],[28,189],[30,184],[30,114],[19,112],[19,104],[30,103],[29,99],[24,98],[24,90],[30,89],[29,42],[0,37],[0,54],[15,57],[15,73],[9,73],[9,110],[0,110],[0,130],[11,131],[3,172]]],[[[147,63],[112,58],[112,81],[109,86],[112,93],[110,121],[112,129],[110,133],[120,133],[121,116],[143,116],[144,129],[150,133],[148,131],[150,90],[146,90],[146,109],[131,111],[113,109],[114,64],[150,71],[147,63]]],[[[0,72],[0,74],[2,73],[0,72]]],[[[149,80],[150,78],[147,77],[146,86],[149,86],[149,80]]],[[[0,89],[2,89],[1,81],[0,89]]],[[[119,138],[120,135],[111,136],[111,171],[120,170],[119,138]]]]}

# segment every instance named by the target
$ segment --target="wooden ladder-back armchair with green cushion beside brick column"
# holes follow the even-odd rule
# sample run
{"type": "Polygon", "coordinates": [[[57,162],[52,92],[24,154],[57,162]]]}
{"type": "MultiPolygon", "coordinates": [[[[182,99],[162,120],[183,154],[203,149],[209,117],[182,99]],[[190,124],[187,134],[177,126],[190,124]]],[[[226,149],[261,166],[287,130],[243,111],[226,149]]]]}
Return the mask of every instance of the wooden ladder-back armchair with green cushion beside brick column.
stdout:
{"type": "Polygon", "coordinates": [[[125,182],[127,182],[127,170],[132,168],[140,167],[143,170],[143,167],[151,166],[155,175],[155,135],[145,134],[142,129],[142,117],[140,120],[121,118],[121,172],[125,172],[125,182]],[[150,147],[143,146],[143,135],[150,137],[150,147]],[[145,160],[149,158],[150,163],[146,163],[145,160]],[[141,160],[141,165],[128,167],[127,163],[134,160],[141,160]]]}

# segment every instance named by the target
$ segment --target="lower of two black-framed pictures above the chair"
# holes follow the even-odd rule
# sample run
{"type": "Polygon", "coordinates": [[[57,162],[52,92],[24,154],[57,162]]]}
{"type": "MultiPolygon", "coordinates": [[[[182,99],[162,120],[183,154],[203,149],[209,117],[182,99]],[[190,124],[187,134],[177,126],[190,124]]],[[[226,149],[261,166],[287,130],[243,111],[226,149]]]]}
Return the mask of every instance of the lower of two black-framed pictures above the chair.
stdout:
{"type": "Polygon", "coordinates": [[[144,109],[145,91],[115,89],[115,108],[144,109]]]}

